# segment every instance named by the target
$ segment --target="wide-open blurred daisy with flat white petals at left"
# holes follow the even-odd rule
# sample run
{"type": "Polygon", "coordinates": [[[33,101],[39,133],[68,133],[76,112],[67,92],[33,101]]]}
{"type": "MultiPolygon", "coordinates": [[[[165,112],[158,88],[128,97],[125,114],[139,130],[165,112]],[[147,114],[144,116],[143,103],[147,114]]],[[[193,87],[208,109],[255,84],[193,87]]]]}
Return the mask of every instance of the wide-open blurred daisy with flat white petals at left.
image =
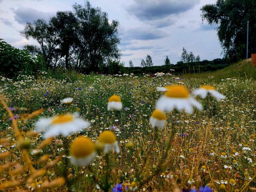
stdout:
{"type": "Polygon", "coordinates": [[[66,113],[50,118],[41,118],[35,123],[35,131],[42,132],[45,130],[44,137],[68,136],[71,133],[81,131],[89,125],[90,123],[80,118],[78,113],[66,113]]]}

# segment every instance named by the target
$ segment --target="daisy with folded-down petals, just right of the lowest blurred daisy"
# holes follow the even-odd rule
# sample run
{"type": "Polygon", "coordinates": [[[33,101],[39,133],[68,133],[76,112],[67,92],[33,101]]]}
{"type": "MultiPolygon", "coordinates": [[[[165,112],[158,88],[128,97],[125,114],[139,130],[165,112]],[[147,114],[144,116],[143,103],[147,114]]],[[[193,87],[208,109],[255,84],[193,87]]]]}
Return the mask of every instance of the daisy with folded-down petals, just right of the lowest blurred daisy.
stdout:
{"type": "Polygon", "coordinates": [[[104,153],[108,153],[109,151],[120,153],[116,136],[112,131],[103,131],[100,133],[98,142],[104,146],[104,153]]]}

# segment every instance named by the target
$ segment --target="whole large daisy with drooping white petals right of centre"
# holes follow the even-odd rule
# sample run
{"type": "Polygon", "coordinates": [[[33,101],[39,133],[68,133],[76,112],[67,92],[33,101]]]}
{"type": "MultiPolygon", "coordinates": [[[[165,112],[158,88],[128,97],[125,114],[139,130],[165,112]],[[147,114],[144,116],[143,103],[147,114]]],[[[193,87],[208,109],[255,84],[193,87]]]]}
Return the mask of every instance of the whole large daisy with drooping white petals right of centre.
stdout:
{"type": "Polygon", "coordinates": [[[190,97],[189,91],[183,85],[172,85],[168,91],[156,102],[156,108],[162,111],[172,111],[184,109],[187,113],[192,113],[193,106],[202,110],[202,105],[194,98],[190,97]]]}

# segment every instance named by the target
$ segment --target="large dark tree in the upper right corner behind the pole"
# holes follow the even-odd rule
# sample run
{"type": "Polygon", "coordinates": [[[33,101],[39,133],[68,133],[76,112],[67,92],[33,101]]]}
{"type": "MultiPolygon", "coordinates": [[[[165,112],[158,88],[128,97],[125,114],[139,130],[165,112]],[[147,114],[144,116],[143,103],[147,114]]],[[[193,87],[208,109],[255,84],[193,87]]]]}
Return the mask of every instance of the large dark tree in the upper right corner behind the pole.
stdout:
{"type": "MultiPolygon", "coordinates": [[[[202,20],[216,28],[224,57],[230,61],[246,58],[247,21],[249,21],[249,46],[256,46],[256,1],[217,0],[201,8],[202,20]]],[[[249,49],[249,54],[251,54],[249,49]]]]}

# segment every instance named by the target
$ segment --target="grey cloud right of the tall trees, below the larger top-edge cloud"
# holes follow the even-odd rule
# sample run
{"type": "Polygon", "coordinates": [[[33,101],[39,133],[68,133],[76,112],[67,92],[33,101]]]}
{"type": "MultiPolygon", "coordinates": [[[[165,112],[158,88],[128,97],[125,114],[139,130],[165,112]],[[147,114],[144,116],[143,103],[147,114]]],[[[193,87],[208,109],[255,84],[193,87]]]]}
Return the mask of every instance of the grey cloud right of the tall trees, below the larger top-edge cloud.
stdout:
{"type": "Polygon", "coordinates": [[[134,28],[129,29],[123,35],[121,35],[121,39],[123,40],[153,40],[153,39],[161,39],[166,37],[168,34],[165,30],[160,29],[145,29],[145,28],[134,28]]]}

